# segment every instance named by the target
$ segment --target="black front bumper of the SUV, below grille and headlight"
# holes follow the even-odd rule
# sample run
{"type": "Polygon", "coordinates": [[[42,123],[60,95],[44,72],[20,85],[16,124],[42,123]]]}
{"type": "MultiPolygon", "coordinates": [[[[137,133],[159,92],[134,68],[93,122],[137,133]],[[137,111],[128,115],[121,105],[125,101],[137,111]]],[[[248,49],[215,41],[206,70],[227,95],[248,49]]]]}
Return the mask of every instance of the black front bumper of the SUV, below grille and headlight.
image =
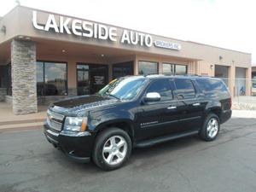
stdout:
{"type": "Polygon", "coordinates": [[[56,132],[50,129],[47,122],[44,122],[44,135],[49,143],[52,143],[55,148],[60,148],[61,151],[69,158],[79,162],[89,162],[93,149],[95,137],[88,131],[56,132]]]}

